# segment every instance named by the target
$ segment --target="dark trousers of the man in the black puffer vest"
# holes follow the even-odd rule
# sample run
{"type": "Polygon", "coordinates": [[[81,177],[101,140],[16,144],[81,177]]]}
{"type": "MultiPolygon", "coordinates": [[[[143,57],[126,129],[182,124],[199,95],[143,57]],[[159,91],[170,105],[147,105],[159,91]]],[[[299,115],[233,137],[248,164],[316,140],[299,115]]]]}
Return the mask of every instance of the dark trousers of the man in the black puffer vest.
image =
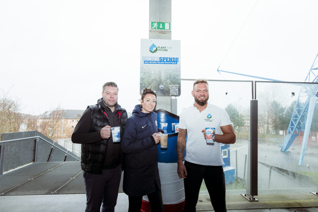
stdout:
{"type": "Polygon", "coordinates": [[[117,203],[119,184],[121,180],[121,166],[104,169],[102,174],[83,174],[86,189],[85,212],[114,212],[117,203]]]}

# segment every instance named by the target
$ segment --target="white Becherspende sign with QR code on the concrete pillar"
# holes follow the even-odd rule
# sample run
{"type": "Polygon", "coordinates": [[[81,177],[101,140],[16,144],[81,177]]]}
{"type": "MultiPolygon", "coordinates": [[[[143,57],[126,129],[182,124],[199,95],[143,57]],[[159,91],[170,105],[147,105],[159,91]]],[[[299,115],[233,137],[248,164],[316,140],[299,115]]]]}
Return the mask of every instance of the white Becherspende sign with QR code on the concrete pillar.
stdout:
{"type": "Polygon", "coordinates": [[[144,88],[157,96],[180,96],[180,40],[141,39],[140,93],[144,88]]]}

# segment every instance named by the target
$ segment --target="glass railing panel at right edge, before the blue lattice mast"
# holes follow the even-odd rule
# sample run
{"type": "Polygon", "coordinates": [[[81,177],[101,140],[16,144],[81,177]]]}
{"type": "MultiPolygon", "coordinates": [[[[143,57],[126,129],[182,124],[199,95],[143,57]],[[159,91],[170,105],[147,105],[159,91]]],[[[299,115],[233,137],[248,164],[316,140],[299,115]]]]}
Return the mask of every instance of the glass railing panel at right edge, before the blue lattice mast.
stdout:
{"type": "Polygon", "coordinates": [[[256,82],[259,194],[317,191],[317,91],[317,84],[256,82]]]}

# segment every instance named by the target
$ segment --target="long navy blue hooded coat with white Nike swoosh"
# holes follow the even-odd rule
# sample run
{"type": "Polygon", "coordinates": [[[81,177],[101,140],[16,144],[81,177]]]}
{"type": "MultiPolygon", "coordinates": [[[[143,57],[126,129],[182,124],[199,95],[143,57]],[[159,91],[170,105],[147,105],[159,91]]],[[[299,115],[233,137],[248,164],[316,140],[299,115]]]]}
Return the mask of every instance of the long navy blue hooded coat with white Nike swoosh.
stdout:
{"type": "Polygon", "coordinates": [[[157,113],[143,113],[136,105],[127,119],[121,150],[125,153],[123,191],[129,196],[143,196],[161,188],[158,170],[158,147],[153,138],[158,130],[157,113]]]}

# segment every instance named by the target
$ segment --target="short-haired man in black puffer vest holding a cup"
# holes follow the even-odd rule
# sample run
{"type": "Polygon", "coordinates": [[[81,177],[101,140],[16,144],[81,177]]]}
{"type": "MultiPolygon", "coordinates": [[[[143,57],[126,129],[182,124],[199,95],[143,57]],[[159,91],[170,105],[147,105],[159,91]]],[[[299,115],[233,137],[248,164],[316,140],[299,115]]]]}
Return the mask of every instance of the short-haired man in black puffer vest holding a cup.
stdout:
{"type": "Polygon", "coordinates": [[[86,212],[114,211],[121,180],[121,142],[113,142],[110,127],[125,129],[127,112],[117,104],[118,87],[103,85],[102,98],[87,106],[72,134],[72,142],[82,144],[86,212]]]}

